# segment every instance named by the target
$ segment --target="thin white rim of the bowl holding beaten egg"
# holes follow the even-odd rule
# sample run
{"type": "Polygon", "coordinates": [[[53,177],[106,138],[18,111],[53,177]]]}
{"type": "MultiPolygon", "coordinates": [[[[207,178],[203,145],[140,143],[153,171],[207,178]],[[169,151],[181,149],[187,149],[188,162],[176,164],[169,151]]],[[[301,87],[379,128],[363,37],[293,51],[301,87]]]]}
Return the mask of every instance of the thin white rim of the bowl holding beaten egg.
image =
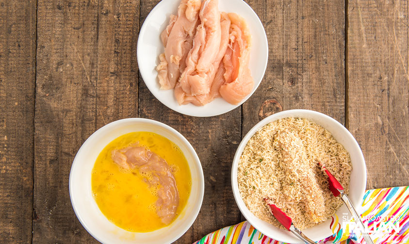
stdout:
{"type": "Polygon", "coordinates": [[[197,156],[197,153],[196,153],[195,149],[193,148],[193,146],[190,144],[190,142],[189,142],[182,134],[180,134],[179,131],[175,130],[174,128],[172,128],[172,127],[170,127],[169,125],[164,124],[164,123],[162,123],[162,122],[158,122],[158,121],[150,120],[150,119],[145,119],[145,118],[127,118],[127,119],[121,119],[121,120],[117,120],[117,121],[114,121],[114,122],[111,122],[111,123],[108,123],[108,124],[102,126],[102,127],[99,128],[96,132],[94,132],[90,137],[88,137],[88,138],[85,140],[85,142],[82,144],[80,150],[78,150],[77,154],[75,155],[74,161],[72,162],[72,165],[71,165],[71,170],[70,170],[70,174],[69,174],[69,183],[68,183],[68,185],[69,185],[69,196],[70,196],[72,208],[74,209],[75,215],[77,216],[78,220],[80,220],[80,223],[81,223],[82,226],[88,231],[88,233],[89,233],[92,237],[94,237],[98,242],[103,243],[103,240],[101,240],[95,233],[93,233],[93,232],[91,231],[91,229],[85,224],[85,221],[82,219],[82,217],[79,215],[79,213],[78,213],[78,211],[77,211],[77,208],[76,208],[75,203],[74,203],[74,202],[75,202],[75,198],[73,198],[72,186],[71,186],[71,185],[72,185],[72,180],[71,180],[71,179],[72,179],[72,175],[73,175],[73,174],[72,174],[72,171],[73,171],[73,168],[74,168],[74,167],[76,167],[78,164],[81,163],[81,162],[77,159],[77,155],[80,154],[80,152],[82,152],[82,150],[83,150],[83,148],[84,148],[83,145],[86,145],[86,144],[90,143],[92,137],[95,137],[95,135],[97,135],[100,131],[102,131],[102,130],[107,130],[107,129],[109,129],[109,128],[114,128],[117,123],[121,123],[121,122],[123,122],[123,121],[147,122],[147,123],[152,123],[152,124],[154,124],[154,125],[158,125],[158,126],[160,126],[160,127],[163,127],[163,128],[165,128],[165,129],[169,130],[169,131],[172,132],[173,134],[175,134],[175,135],[177,135],[178,137],[180,137],[180,139],[183,141],[183,143],[187,146],[188,150],[192,153],[192,156],[194,157],[195,162],[198,162],[198,164],[199,164],[199,165],[198,165],[198,169],[199,169],[199,172],[200,172],[200,173],[199,173],[199,182],[201,182],[201,184],[200,184],[200,189],[199,189],[199,191],[200,191],[200,193],[201,193],[201,194],[199,194],[199,196],[200,196],[200,199],[199,199],[200,204],[198,204],[198,205],[195,207],[195,209],[194,209],[194,215],[195,215],[194,218],[192,218],[192,219],[188,222],[188,224],[186,225],[186,227],[183,229],[183,231],[180,232],[179,235],[175,236],[173,239],[170,239],[169,242],[168,242],[168,243],[173,243],[174,241],[178,240],[184,233],[186,233],[186,231],[187,231],[187,230],[193,225],[193,223],[196,221],[197,215],[199,214],[199,211],[200,211],[201,206],[202,206],[202,204],[203,204],[203,196],[204,196],[204,176],[203,176],[203,168],[202,168],[202,166],[201,166],[200,159],[199,159],[199,157],[197,156]]]}

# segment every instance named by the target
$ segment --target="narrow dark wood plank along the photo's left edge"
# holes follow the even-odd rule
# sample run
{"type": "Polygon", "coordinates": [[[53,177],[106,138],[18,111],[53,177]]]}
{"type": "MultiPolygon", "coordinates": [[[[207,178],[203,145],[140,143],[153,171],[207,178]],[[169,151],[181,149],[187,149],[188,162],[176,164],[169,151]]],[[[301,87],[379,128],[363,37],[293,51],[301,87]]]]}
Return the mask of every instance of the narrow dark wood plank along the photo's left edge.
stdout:
{"type": "Polygon", "coordinates": [[[0,242],[31,243],[36,1],[0,0],[0,242]]]}

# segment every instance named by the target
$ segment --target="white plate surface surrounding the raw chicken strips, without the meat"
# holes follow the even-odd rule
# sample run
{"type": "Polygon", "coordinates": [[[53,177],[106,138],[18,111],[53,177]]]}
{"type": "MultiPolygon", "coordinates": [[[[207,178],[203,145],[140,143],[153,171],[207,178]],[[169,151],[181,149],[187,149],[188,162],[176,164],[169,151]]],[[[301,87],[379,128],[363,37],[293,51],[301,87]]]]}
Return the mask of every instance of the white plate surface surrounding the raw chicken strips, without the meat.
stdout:
{"type": "Polygon", "coordinates": [[[253,9],[243,0],[219,0],[219,10],[234,12],[243,16],[252,35],[249,68],[254,78],[254,88],[250,94],[238,105],[232,105],[222,98],[217,98],[205,106],[197,107],[192,104],[179,105],[171,90],[161,90],[156,66],[159,63],[159,54],[164,52],[160,39],[161,32],[169,23],[169,15],[177,15],[180,0],[162,0],[147,15],[139,32],[136,55],[139,71],[150,92],[166,107],[181,114],[197,117],[216,116],[239,107],[256,91],[262,81],[267,67],[268,45],[262,22],[253,9]]]}

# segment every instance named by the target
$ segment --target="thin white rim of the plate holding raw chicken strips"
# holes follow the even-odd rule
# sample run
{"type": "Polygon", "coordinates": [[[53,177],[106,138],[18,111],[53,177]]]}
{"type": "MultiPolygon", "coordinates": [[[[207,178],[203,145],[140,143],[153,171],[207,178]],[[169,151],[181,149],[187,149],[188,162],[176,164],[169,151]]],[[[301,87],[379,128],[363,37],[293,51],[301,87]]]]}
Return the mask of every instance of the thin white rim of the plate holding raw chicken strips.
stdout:
{"type": "MultiPolygon", "coordinates": [[[[164,1],[164,0],[162,0],[162,1],[164,1]]],[[[161,2],[162,2],[162,1],[161,1],[161,2]]],[[[145,31],[146,31],[146,28],[147,28],[147,25],[145,25],[145,22],[149,21],[150,18],[152,17],[152,15],[153,15],[152,13],[155,12],[157,9],[160,8],[160,3],[161,3],[161,2],[159,2],[158,4],[156,4],[156,6],[149,12],[149,14],[147,15],[147,17],[146,17],[144,23],[142,24],[141,30],[139,31],[138,42],[137,42],[137,45],[136,45],[136,60],[137,60],[137,62],[138,62],[138,66],[139,66],[140,60],[142,60],[142,57],[139,56],[140,53],[141,53],[141,52],[140,52],[140,48],[142,48],[141,45],[140,45],[140,42],[142,42],[140,37],[144,35],[144,33],[145,33],[145,31]]],[[[263,68],[263,72],[262,72],[262,73],[263,73],[262,78],[263,78],[264,75],[265,75],[265,70],[267,69],[268,54],[269,54],[269,53],[268,53],[268,39],[267,39],[267,34],[266,34],[266,32],[265,32],[264,26],[263,26],[263,24],[262,24],[262,21],[260,20],[259,15],[257,15],[256,12],[254,12],[253,8],[252,8],[250,5],[248,5],[247,2],[245,2],[244,0],[242,0],[242,2],[243,2],[243,3],[246,5],[246,7],[250,10],[250,13],[251,13],[252,15],[255,15],[255,16],[256,16],[256,19],[257,19],[257,21],[258,21],[258,24],[261,25],[262,28],[263,28],[263,30],[264,30],[264,32],[263,32],[264,35],[263,35],[262,37],[263,37],[264,42],[265,42],[265,45],[266,45],[267,55],[266,55],[265,60],[264,60],[264,68],[263,68]]],[[[183,106],[179,106],[179,107],[176,107],[176,108],[175,108],[175,107],[170,107],[170,106],[164,101],[164,99],[162,99],[161,96],[156,96],[156,95],[155,95],[155,91],[153,91],[153,88],[151,88],[151,86],[150,86],[149,84],[147,84],[147,80],[148,80],[148,79],[147,79],[146,76],[144,76],[143,71],[142,71],[142,70],[139,70],[139,73],[141,74],[142,79],[144,80],[144,82],[145,82],[147,88],[148,88],[149,91],[152,93],[152,95],[153,95],[156,99],[158,99],[164,106],[166,106],[166,107],[168,107],[168,108],[170,108],[170,109],[172,109],[172,110],[174,110],[174,111],[176,111],[176,112],[178,112],[178,113],[181,113],[181,114],[184,114],[184,115],[189,115],[189,116],[194,116],[194,117],[213,117],[213,116],[225,114],[225,113],[227,113],[227,112],[229,112],[229,111],[231,111],[231,110],[233,110],[233,109],[235,109],[235,108],[237,108],[237,107],[240,107],[243,103],[245,103],[245,101],[247,101],[247,99],[249,99],[249,98],[253,95],[254,92],[256,92],[257,88],[260,86],[260,84],[261,84],[261,82],[262,82],[262,78],[260,79],[260,81],[254,82],[255,87],[253,87],[253,90],[252,90],[237,106],[229,107],[229,108],[227,108],[227,109],[225,109],[225,110],[223,110],[223,111],[216,112],[216,113],[213,113],[213,114],[204,115],[204,114],[200,114],[200,113],[195,113],[195,112],[191,113],[191,112],[189,112],[189,111],[184,111],[184,110],[183,110],[183,106]]]]}

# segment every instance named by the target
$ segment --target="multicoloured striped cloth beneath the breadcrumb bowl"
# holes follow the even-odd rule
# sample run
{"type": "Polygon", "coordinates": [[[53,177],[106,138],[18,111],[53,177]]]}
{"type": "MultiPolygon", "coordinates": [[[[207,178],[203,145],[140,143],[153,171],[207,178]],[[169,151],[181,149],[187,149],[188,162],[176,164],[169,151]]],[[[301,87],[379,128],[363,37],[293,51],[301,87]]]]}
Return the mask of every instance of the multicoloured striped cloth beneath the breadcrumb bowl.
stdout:
{"type": "MultiPolygon", "coordinates": [[[[376,244],[409,244],[409,186],[367,190],[365,192],[361,217],[376,244]],[[382,222],[382,223],[381,223],[382,222]],[[382,228],[385,224],[386,227],[382,228]],[[393,228],[395,227],[395,228],[393,228]],[[384,229],[381,231],[379,229],[384,229]],[[397,230],[396,230],[397,229],[397,230]]],[[[342,217],[341,217],[342,218],[342,217]]],[[[350,233],[343,219],[334,215],[331,221],[332,236],[319,243],[325,244],[365,244],[360,234],[350,233]],[[345,231],[346,230],[346,231],[345,231]]],[[[353,222],[353,221],[352,221],[353,222]]],[[[284,244],[271,239],[247,221],[216,230],[194,244],[284,244]]]]}

